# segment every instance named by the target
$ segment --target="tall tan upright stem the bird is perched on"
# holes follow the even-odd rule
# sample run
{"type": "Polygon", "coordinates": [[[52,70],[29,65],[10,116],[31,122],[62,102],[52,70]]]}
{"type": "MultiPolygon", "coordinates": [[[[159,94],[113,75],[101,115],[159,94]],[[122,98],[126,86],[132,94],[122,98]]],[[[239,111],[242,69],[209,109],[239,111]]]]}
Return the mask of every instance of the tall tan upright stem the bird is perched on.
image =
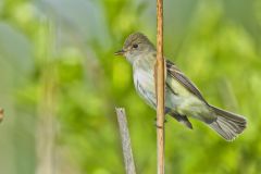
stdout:
{"type": "Polygon", "coordinates": [[[164,60],[163,60],[163,0],[157,0],[157,149],[158,174],[164,174],[164,60]]]}

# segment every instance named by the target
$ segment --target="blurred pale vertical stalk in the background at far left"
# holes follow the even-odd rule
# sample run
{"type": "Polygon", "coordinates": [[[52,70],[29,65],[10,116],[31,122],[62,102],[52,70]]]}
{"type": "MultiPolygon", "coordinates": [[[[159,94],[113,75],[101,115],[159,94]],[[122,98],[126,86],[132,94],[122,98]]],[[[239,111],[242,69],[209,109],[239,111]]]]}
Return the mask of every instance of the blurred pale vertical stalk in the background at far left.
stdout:
{"type": "Polygon", "coordinates": [[[37,124],[37,174],[54,174],[55,138],[55,69],[53,65],[54,27],[49,18],[41,21],[44,30],[39,34],[39,63],[41,65],[40,98],[37,124]]]}

